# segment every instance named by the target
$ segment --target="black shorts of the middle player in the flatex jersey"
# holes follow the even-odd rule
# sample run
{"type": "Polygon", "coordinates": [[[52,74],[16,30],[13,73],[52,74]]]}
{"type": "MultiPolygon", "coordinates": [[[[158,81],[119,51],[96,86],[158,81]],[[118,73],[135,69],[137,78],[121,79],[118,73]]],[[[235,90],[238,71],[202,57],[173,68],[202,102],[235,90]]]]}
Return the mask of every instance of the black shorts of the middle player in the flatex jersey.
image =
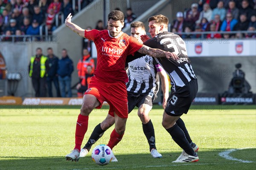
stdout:
{"type": "Polygon", "coordinates": [[[135,106],[138,108],[142,104],[147,104],[150,106],[153,106],[154,98],[155,95],[154,93],[142,93],[142,94],[137,94],[137,93],[129,93],[128,94],[128,113],[130,113],[132,110],[134,110],[135,106]]]}

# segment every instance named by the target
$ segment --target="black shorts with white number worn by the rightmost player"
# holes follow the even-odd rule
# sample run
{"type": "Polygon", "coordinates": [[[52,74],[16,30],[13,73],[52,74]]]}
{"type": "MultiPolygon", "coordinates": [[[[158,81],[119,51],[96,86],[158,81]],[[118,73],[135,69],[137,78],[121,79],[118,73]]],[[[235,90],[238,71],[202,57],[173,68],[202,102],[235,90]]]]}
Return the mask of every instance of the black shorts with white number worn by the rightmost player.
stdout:
{"type": "Polygon", "coordinates": [[[177,88],[176,91],[169,96],[165,112],[170,116],[181,116],[183,113],[188,113],[197,91],[197,79],[193,79],[185,86],[177,88]]]}

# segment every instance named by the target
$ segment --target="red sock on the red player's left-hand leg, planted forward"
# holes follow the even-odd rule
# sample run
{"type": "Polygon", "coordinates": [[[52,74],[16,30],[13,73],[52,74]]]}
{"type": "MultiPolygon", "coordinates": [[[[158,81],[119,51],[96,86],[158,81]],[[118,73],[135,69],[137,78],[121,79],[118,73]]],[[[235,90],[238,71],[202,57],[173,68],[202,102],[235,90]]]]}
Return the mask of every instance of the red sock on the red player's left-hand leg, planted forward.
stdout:
{"type": "Polygon", "coordinates": [[[88,128],[88,118],[89,116],[78,115],[76,122],[76,146],[74,149],[81,150],[81,144],[84,139],[84,135],[88,128]]]}

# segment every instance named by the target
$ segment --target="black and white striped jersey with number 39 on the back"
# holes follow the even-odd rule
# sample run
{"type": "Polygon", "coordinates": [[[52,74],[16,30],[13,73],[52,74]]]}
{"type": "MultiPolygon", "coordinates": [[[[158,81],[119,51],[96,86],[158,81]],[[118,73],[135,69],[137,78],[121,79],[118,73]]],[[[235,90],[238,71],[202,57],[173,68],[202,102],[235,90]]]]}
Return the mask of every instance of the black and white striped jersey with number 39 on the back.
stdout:
{"type": "Polygon", "coordinates": [[[173,91],[176,91],[178,87],[183,87],[190,80],[196,79],[187,55],[185,42],[179,35],[163,32],[146,41],[144,45],[151,48],[159,48],[163,51],[175,52],[180,58],[179,60],[167,59],[166,57],[155,58],[169,75],[173,91]]]}

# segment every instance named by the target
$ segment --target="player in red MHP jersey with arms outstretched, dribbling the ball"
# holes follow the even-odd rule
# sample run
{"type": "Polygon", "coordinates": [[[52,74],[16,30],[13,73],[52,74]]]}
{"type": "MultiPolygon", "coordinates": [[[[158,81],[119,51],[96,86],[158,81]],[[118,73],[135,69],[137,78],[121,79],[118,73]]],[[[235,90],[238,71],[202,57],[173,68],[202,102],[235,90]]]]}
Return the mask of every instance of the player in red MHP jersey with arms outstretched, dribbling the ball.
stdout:
{"type": "Polygon", "coordinates": [[[125,60],[136,51],[152,57],[178,59],[175,53],[142,45],[136,38],[123,33],[124,14],[115,10],[108,14],[108,30],[84,30],[71,22],[71,14],[65,24],[81,37],[93,40],[97,49],[97,68],[83,97],[83,104],[76,122],[76,140],[74,150],[66,155],[67,160],[78,161],[81,144],[88,127],[88,116],[94,108],[101,108],[108,102],[109,113],[115,117],[115,128],[111,133],[108,146],[112,149],[118,144],[125,132],[128,117],[127,91],[125,82],[125,60]]]}

